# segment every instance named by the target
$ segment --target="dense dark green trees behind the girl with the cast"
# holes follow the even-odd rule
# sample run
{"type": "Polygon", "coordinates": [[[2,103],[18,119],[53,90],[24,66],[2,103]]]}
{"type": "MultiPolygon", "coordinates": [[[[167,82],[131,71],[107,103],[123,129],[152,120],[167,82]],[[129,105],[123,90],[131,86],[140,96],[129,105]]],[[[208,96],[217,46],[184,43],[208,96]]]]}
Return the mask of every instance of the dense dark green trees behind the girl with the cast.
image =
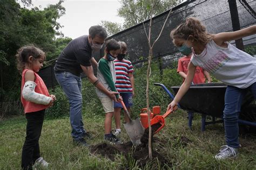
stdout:
{"type": "Polygon", "coordinates": [[[11,98],[16,101],[20,96],[21,79],[16,69],[17,49],[28,44],[42,48],[48,57],[57,58],[60,46],[68,44],[59,29],[57,19],[65,14],[63,0],[48,5],[43,10],[30,8],[30,0],[1,0],[0,5],[0,102],[11,98]],[[24,6],[24,7],[21,7],[24,6]],[[29,8],[28,8],[29,6],[29,8]],[[56,39],[59,36],[60,39],[56,39]],[[60,45],[60,46],[58,46],[60,45]]]}

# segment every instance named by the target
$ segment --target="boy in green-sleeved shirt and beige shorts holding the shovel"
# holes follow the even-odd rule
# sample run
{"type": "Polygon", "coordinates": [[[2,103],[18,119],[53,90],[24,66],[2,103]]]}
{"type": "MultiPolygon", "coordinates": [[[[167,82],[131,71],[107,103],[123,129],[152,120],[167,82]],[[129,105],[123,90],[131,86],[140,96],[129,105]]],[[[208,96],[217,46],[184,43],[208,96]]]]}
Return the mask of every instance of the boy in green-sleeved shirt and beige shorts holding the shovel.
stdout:
{"type": "MultiPolygon", "coordinates": [[[[109,91],[117,91],[114,83],[116,82],[116,70],[114,69],[113,60],[117,58],[120,53],[120,44],[118,41],[110,39],[105,45],[105,55],[99,60],[97,68],[97,77],[103,86],[109,91]]],[[[106,113],[105,115],[105,136],[104,139],[110,143],[120,144],[121,141],[111,133],[112,117],[114,112],[113,100],[105,95],[99,89],[96,89],[96,93],[99,97],[100,102],[102,102],[103,109],[106,113]]],[[[116,95],[117,101],[121,101],[122,97],[116,95]]]]}

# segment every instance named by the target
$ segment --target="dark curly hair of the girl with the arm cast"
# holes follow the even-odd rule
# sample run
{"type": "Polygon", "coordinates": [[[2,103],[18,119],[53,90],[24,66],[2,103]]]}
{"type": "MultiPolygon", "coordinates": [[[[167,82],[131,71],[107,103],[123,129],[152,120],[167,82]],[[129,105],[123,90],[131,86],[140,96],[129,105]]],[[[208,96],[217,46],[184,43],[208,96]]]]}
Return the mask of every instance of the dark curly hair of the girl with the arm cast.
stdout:
{"type": "Polygon", "coordinates": [[[40,58],[41,56],[44,56],[45,58],[45,53],[33,45],[28,45],[19,48],[15,56],[17,60],[17,69],[22,73],[25,68],[25,63],[29,62],[29,56],[33,56],[34,59],[40,58]]]}

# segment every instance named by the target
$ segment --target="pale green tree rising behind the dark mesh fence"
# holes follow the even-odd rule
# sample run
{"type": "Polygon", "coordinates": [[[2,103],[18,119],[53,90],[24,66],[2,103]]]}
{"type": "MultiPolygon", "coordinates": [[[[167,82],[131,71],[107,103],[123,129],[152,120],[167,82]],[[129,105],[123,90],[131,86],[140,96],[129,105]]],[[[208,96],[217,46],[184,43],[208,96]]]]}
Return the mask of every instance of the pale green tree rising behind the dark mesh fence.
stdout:
{"type": "MultiPolygon", "coordinates": [[[[152,13],[152,17],[159,15],[160,13],[169,10],[172,6],[180,3],[181,0],[161,0],[159,1],[152,13]]],[[[122,30],[128,29],[131,26],[144,22],[151,17],[152,0],[122,0],[119,1],[121,8],[118,9],[118,16],[124,18],[123,24],[112,23],[109,21],[102,21],[100,25],[107,29],[110,36],[116,34],[122,30]]]]}

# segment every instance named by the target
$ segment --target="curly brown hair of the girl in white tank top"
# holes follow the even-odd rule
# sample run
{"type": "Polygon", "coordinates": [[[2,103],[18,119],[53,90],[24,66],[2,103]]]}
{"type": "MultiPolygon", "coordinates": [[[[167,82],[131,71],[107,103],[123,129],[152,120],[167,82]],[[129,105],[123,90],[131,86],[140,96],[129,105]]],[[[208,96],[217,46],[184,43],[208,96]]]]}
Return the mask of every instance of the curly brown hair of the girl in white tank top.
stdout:
{"type": "Polygon", "coordinates": [[[172,39],[187,39],[190,35],[194,37],[195,41],[203,45],[206,45],[213,38],[213,34],[207,33],[205,26],[201,24],[200,20],[194,17],[188,17],[185,23],[180,24],[170,33],[172,39]]]}

